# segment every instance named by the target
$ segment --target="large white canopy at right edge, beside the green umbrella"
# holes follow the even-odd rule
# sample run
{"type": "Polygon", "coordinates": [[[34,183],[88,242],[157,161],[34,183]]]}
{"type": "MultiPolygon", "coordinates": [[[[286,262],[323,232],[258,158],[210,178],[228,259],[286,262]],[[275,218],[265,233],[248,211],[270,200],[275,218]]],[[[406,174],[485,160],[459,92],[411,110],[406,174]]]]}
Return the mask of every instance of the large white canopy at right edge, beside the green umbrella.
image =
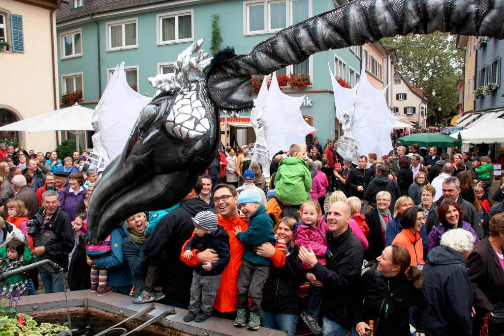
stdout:
{"type": "Polygon", "coordinates": [[[495,119],[483,124],[450,135],[453,138],[462,137],[462,143],[494,143],[504,142],[504,119],[495,119]]]}

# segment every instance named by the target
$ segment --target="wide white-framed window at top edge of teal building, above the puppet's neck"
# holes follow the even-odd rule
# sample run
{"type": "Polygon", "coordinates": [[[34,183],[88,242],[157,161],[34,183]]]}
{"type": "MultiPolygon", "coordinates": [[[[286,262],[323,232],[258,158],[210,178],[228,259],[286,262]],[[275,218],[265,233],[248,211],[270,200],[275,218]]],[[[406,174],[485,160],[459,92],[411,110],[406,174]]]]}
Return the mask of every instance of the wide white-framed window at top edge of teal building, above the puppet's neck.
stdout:
{"type": "Polygon", "coordinates": [[[243,3],[243,34],[277,32],[308,19],[312,0],[248,0],[243,3]]]}

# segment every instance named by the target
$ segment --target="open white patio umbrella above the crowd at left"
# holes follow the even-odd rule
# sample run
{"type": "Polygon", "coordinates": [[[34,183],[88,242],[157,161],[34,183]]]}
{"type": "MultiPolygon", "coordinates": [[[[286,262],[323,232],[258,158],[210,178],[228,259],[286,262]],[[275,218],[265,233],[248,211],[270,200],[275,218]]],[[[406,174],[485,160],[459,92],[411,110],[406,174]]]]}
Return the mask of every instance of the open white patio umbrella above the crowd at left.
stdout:
{"type": "Polygon", "coordinates": [[[0,131],[44,132],[69,131],[75,134],[76,149],[79,151],[79,135],[92,131],[91,121],[94,110],[75,103],[71,107],[59,109],[37,116],[16,121],[0,127],[0,131]]]}

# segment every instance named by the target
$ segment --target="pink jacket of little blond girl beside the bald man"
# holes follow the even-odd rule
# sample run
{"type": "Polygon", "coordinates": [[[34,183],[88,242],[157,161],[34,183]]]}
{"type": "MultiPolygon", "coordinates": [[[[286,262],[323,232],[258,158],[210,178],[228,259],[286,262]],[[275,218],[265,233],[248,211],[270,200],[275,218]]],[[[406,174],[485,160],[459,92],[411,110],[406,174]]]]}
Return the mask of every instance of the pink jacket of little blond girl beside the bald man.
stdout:
{"type": "MultiPolygon", "coordinates": [[[[293,235],[294,242],[297,247],[311,246],[313,253],[317,256],[317,261],[322,265],[326,265],[327,239],[326,231],[329,230],[329,225],[322,216],[317,224],[317,227],[306,225],[302,222],[297,223],[296,233],[293,235]]],[[[308,264],[301,263],[303,269],[311,268],[308,264]]]]}

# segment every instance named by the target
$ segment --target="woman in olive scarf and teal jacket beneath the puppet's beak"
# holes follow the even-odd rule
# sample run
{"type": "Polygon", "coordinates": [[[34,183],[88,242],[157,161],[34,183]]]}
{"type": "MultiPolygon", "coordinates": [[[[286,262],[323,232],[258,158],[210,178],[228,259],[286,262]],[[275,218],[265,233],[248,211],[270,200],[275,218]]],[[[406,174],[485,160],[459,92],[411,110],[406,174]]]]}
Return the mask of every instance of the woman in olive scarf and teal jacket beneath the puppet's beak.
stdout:
{"type": "Polygon", "coordinates": [[[144,212],[128,217],[126,220],[128,235],[122,240],[122,255],[125,263],[131,269],[134,285],[133,297],[135,298],[144,291],[147,273],[147,263],[143,251],[143,245],[147,239],[145,228],[149,225],[146,219],[147,216],[144,212]]]}

